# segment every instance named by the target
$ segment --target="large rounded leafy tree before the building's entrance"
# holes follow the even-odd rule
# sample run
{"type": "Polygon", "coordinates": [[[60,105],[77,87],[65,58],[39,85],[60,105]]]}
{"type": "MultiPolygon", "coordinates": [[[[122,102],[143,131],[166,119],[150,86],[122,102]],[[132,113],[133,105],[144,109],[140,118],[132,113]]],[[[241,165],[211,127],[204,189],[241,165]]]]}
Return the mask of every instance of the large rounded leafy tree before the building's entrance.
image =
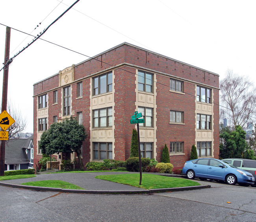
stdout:
{"type": "Polygon", "coordinates": [[[81,146],[87,134],[83,125],[76,118],[66,118],[61,123],[53,123],[43,132],[39,141],[42,153],[54,154],[59,152],[76,152],[80,168],[83,170],[81,159],[81,146]]]}

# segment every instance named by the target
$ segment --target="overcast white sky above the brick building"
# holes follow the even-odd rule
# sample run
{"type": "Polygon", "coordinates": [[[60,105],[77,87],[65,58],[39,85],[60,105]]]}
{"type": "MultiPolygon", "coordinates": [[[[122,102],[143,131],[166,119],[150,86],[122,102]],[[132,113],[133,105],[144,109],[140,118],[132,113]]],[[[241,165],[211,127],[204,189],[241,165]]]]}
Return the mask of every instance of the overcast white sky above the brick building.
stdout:
{"type": "MultiPolygon", "coordinates": [[[[74,2],[1,1],[0,23],[31,33],[42,22],[31,33],[37,35],[74,2]]],[[[220,79],[231,69],[256,84],[255,9],[255,0],[80,0],[42,39],[91,57],[128,42],[217,73],[220,79]]],[[[5,35],[6,27],[0,25],[2,62],[5,35]]],[[[10,57],[32,39],[11,29],[10,57]]],[[[33,84],[86,59],[39,39],[13,60],[8,99],[28,121],[24,132],[33,132],[33,84]]],[[[3,71],[1,99],[2,78],[3,71]]]]}

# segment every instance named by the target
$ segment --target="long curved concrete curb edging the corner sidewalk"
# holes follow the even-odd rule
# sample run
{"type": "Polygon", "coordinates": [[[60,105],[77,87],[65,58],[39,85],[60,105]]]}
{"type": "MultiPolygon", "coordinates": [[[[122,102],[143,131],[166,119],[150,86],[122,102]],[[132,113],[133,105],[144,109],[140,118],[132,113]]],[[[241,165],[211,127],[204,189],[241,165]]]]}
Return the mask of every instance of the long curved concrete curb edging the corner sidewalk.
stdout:
{"type": "Polygon", "coordinates": [[[150,193],[162,193],[162,192],[174,192],[174,191],[188,191],[195,189],[210,188],[210,185],[200,185],[191,187],[173,187],[173,188],[161,188],[161,189],[150,189],[150,190],[134,190],[134,191],[93,191],[93,190],[71,190],[53,187],[37,187],[37,186],[27,186],[19,184],[2,183],[0,185],[7,187],[16,187],[23,189],[32,189],[37,191],[55,191],[55,192],[65,192],[65,193],[91,193],[91,194],[150,194],[150,193]]]}

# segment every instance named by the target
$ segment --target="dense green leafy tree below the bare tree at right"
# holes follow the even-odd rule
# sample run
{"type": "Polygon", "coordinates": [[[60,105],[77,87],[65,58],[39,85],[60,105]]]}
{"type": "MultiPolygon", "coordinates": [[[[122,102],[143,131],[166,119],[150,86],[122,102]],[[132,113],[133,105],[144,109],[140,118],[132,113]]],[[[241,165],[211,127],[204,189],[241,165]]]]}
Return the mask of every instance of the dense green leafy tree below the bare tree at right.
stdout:
{"type": "Polygon", "coordinates": [[[220,134],[220,158],[242,158],[244,150],[248,147],[245,134],[246,132],[239,125],[234,131],[224,131],[220,134]]]}

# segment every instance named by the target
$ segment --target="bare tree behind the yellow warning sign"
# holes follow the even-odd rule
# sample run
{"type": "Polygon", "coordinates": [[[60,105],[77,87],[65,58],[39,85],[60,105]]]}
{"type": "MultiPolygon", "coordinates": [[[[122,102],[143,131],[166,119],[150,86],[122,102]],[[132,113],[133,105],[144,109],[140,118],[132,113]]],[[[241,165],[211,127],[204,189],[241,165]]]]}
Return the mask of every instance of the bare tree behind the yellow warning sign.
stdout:
{"type": "MultiPolygon", "coordinates": [[[[2,104],[2,103],[1,103],[2,104]]],[[[15,120],[15,122],[6,130],[9,132],[9,139],[13,139],[13,136],[26,129],[27,119],[22,117],[19,109],[17,109],[11,101],[7,102],[7,113],[15,120]]]]}

